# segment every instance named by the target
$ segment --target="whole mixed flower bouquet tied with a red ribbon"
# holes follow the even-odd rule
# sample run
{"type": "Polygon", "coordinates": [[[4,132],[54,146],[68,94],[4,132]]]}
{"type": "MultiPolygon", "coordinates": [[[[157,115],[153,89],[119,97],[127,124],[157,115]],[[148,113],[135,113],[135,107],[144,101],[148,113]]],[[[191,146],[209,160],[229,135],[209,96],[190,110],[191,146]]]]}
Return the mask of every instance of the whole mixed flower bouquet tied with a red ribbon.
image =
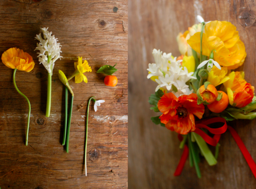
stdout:
{"type": "Polygon", "coordinates": [[[254,119],[254,87],[246,82],[243,71],[235,71],[246,58],[244,43],[236,26],[227,21],[204,22],[177,36],[181,56],[153,50],[155,63],[148,65],[147,78],[158,85],[149,98],[155,124],[176,131],[184,148],[175,176],[185,161],[195,166],[200,178],[199,161],[203,156],[210,166],[217,164],[219,140],[228,129],[243,153],[253,175],[256,165],[238,133],[227,121],[254,119]],[[212,153],[208,145],[215,146],[212,153]]]}

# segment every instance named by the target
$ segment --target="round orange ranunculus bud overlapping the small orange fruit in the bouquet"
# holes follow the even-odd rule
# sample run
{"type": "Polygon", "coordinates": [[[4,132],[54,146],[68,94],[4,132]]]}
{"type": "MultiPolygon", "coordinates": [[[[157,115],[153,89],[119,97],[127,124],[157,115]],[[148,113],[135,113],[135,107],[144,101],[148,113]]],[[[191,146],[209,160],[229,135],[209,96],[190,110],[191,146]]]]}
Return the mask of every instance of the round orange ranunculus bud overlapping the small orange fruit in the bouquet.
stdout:
{"type": "Polygon", "coordinates": [[[198,97],[203,101],[203,103],[210,104],[217,99],[218,91],[213,85],[207,85],[205,83],[199,88],[198,97]]]}

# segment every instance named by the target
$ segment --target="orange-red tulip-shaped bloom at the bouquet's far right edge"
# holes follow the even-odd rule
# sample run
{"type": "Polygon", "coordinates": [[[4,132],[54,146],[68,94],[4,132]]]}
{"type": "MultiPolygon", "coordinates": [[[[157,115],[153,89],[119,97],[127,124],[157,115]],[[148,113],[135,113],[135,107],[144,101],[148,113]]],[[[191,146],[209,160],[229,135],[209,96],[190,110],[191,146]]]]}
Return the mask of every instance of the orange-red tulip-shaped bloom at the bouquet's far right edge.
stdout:
{"type": "Polygon", "coordinates": [[[246,83],[241,85],[234,91],[233,94],[233,105],[236,107],[244,107],[252,101],[254,96],[254,87],[251,84],[246,83]]]}

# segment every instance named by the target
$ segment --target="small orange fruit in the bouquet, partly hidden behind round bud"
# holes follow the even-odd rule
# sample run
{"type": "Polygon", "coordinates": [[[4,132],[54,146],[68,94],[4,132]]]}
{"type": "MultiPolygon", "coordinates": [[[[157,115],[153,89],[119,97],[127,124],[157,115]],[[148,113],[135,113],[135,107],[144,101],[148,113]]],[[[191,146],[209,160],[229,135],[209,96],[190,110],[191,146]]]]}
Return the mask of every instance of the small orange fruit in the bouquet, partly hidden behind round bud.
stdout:
{"type": "Polygon", "coordinates": [[[216,100],[216,101],[212,102],[211,104],[207,105],[208,109],[211,112],[214,112],[214,113],[221,113],[228,106],[228,96],[227,96],[227,94],[224,93],[223,91],[218,91],[218,92],[222,93],[222,99],[220,101],[216,100]]]}

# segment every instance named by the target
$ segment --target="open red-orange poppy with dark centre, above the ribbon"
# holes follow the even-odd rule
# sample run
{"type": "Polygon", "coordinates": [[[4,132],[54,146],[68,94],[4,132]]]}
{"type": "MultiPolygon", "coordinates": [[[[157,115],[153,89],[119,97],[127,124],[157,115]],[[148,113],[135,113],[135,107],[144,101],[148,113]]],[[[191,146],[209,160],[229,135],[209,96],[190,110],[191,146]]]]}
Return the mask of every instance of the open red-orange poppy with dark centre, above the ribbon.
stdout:
{"type": "Polygon", "coordinates": [[[196,129],[194,115],[201,119],[204,114],[204,105],[197,104],[197,95],[194,93],[179,98],[173,93],[164,94],[157,106],[163,113],[160,119],[165,127],[180,134],[194,131],[196,129]]]}

